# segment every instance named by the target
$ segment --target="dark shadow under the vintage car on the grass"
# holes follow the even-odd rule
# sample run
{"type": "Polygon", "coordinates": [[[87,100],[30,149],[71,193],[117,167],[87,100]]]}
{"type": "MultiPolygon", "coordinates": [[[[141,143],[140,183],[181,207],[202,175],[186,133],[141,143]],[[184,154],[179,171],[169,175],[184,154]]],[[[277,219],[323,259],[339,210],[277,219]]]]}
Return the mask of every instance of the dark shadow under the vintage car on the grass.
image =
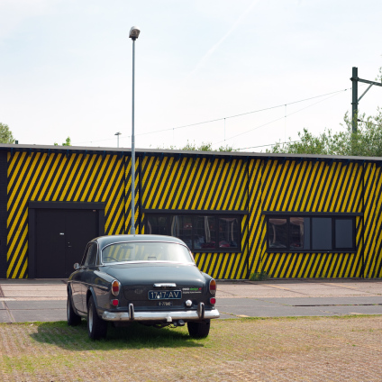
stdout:
{"type": "Polygon", "coordinates": [[[115,328],[109,323],[105,340],[92,341],[87,336],[86,321],[78,326],[67,322],[33,323],[37,332],[31,333],[34,341],[59,346],[66,350],[115,350],[204,347],[204,340],[189,337],[186,326],[156,329],[139,323],[125,328],[115,328]]]}

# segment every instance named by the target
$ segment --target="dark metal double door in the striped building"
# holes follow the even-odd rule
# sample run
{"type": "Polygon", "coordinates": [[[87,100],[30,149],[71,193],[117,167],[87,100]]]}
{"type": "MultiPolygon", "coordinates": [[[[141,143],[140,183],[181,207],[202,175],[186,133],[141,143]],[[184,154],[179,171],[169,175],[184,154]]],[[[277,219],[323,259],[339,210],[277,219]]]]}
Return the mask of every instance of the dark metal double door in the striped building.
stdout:
{"type": "Polygon", "coordinates": [[[96,210],[36,211],[36,277],[66,278],[98,235],[96,210]]]}

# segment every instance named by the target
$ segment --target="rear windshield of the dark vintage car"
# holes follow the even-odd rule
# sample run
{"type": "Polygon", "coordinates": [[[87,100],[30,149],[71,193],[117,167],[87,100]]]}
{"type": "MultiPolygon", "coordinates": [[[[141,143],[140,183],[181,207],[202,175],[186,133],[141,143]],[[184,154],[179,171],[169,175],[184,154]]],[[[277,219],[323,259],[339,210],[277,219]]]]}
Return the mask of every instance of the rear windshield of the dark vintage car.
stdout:
{"type": "Polygon", "coordinates": [[[170,242],[118,242],[102,250],[102,262],[172,261],[194,263],[185,246],[170,242]]]}

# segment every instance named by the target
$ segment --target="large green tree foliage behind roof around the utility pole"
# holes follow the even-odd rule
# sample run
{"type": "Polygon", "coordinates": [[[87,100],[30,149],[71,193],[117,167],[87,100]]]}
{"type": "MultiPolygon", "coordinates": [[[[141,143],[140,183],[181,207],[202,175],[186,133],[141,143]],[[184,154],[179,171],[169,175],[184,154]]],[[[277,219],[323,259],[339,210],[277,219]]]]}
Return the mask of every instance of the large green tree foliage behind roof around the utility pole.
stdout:
{"type": "Polygon", "coordinates": [[[307,129],[298,132],[299,141],[277,142],[269,153],[343,155],[382,157],[382,110],[377,115],[366,117],[359,114],[358,130],[352,132],[351,117],[345,114],[341,132],[332,133],[325,129],[314,136],[307,129]]]}

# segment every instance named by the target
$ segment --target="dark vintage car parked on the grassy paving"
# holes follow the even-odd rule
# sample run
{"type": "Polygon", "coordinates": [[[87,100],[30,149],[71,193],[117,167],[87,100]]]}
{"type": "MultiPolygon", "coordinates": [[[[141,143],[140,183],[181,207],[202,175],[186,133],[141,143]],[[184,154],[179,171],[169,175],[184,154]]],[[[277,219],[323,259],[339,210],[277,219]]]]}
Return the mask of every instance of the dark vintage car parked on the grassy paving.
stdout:
{"type": "Polygon", "coordinates": [[[201,272],[186,244],[159,235],[103,236],[90,241],[68,278],[68,325],[87,318],[93,340],[105,338],[107,322],[165,327],[187,323],[204,338],[215,309],[216,282],[201,272]]]}

